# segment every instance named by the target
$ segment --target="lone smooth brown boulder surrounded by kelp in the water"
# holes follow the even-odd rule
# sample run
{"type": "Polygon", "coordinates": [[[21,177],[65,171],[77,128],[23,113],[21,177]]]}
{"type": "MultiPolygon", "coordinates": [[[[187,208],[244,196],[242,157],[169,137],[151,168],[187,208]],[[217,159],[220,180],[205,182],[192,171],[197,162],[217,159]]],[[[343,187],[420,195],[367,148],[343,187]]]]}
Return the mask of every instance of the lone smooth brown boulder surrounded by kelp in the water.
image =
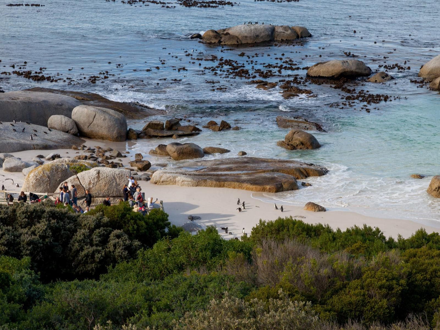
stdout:
{"type": "Polygon", "coordinates": [[[368,77],[371,69],[357,59],[319,62],[307,70],[308,77],[339,78],[339,77],[368,77]]]}

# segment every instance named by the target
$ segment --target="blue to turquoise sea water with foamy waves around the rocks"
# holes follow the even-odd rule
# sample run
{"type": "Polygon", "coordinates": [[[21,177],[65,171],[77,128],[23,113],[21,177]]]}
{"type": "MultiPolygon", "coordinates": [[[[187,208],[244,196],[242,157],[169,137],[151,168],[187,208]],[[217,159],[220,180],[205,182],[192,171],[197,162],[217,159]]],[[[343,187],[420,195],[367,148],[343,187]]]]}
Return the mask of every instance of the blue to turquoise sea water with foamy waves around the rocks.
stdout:
{"type": "MultiPolygon", "coordinates": [[[[44,7],[7,7],[9,2],[0,0],[0,66],[4,66],[0,71],[11,72],[12,64],[17,68],[26,61],[26,70],[46,67],[44,74],[60,74],[57,77],[69,77],[73,83],[42,83],[0,74],[0,88],[4,91],[35,86],[87,90],[114,100],[164,109],[166,117],[187,116],[198,125],[210,119],[225,119],[242,129],[204,131],[200,136],[178,141],[191,141],[202,147],[221,144],[231,149],[231,154],[245,150],[249,155],[301,159],[330,169],[324,177],[308,179],[312,187],[276,196],[268,194],[268,199],[295,205],[313,201],[330,209],[421,222],[440,220],[440,201],[425,192],[430,178],[440,174],[440,95],[410,82],[422,64],[440,53],[435,24],[438,1],[372,0],[360,5],[348,0],[281,4],[247,0],[234,7],[176,5],[172,9],[105,0],[41,1],[44,7]],[[293,44],[235,49],[189,39],[191,33],[245,21],[304,25],[313,37],[293,44]],[[249,68],[247,58],[238,56],[242,51],[258,55],[254,58],[259,61],[255,67],[262,67],[263,62],[279,62],[275,58],[281,54],[304,67],[328,59],[346,59],[343,52],[351,51],[373,70],[393,63],[411,69],[390,70],[396,80],[389,84],[356,87],[375,94],[400,95],[392,102],[369,106],[371,111],[367,113],[359,111],[360,105],[354,106],[356,109],[330,107],[341,102],[338,94],[345,94],[329,86],[308,85],[318,95],[313,99],[285,100],[279,88],[259,90],[246,79],[202,70],[204,66],[214,66],[213,62],[191,60],[216,55],[249,68]],[[185,56],[188,53],[191,56],[185,56]],[[183,66],[187,70],[175,70],[183,66]],[[109,78],[96,84],[82,79],[104,71],[109,72],[109,78]],[[219,86],[224,89],[211,90],[219,86]],[[322,123],[328,133],[314,134],[323,147],[308,151],[277,147],[276,141],[287,133],[276,126],[275,117],[280,114],[322,123]],[[410,178],[412,173],[427,177],[414,180],[410,178]]],[[[305,70],[282,74],[289,73],[305,76],[305,70]]],[[[129,123],[133,128],[143,125],[143,121],[129,123]]],[[[155,139],[139,140],[134,150],[147,153],[158,143],[155,139]]],[[[150,160],[162,162],[152,157],[150,160]]]]}

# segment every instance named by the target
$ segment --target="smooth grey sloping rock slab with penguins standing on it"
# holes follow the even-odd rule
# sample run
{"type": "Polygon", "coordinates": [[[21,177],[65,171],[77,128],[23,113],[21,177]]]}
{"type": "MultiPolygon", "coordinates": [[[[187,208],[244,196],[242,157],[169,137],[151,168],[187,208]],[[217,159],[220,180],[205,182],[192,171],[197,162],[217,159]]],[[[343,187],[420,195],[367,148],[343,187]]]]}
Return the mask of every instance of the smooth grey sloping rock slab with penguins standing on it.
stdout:
{"type": "Polygon", "coordinates": [[[85,141],[68,133],[60,132],[55,129],[51,131],[45,126],[27,125],[26,123],[3,122],[0,125],[0,152],[18,152],[24,150],[51,150],[67,149],[73,145],[80,146],[85,141]],[[13,124],[12,127],[10,124],[13,124]],[[25,128],[25,132],[22,132],[25,128]],[[12,129],[15,129],[14,132],[12,129]],[[33,130],[37,130],[34,132],[33,130]],[[47,134],[44,134],[47,132],[47,134]],[[32,140],[30,136],[33,136],[32,140]]]}

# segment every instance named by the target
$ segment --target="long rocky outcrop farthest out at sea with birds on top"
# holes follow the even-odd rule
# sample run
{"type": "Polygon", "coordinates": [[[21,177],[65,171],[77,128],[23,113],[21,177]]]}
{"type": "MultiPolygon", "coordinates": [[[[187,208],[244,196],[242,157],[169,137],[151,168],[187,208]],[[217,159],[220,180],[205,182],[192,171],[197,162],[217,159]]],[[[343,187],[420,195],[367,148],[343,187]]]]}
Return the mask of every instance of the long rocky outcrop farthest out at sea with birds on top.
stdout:
{"type": "Polygon", "coordinates": [[[208,44],[256,44],[272,40],[295,40],[312,35],[304,26],[242,24],[227,29],[206,31],[202,40],[208,44]]]}

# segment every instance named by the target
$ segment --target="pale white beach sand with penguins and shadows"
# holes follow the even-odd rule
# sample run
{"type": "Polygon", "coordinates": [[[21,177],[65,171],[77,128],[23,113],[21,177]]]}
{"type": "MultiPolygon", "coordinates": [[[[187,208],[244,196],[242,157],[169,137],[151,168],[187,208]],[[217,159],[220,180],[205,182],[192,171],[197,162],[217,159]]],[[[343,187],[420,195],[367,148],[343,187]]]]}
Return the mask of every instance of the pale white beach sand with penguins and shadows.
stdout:
{"type": "MultiPolygon", "coordinates": [[[[131,147],[136,143],[130,141],[109,142],[86,139],[85,144],[89,147],[112,147],[124,153],[125,150],[130,151],[131,147]]],[[[38,154],[46,156],[52,152],[60,154],[61,157],[75,157],[78,155],[76,150],[69,149],[27,150],[12,154],[15,157],[22,158],[24,161],[30,161],[38,154]]],[[[83,154],[83,152],[79,154],[83,154]]],[[[153,165],[154,162],[158,162],[151,159],[148,155],[144,155],[144,157],[152,161],[153,165]]],[[[127,154],[127,158],[121,159],[124,165],[128,165],[128,162],[134,159],[134,152],[130,151],[130,154],[127,154]]],[[[164,160],[164,158],[161,158],[159,161],[164,162],[164,160]]],[[[21,172],[11,173],[0,169],[0,186],[4,184],[8,191],[17,192],[20,191],[20,188],[15,187],[15,184],[12,185],[11,180],[5,181],[4,179],[6,178],[12,178],[20,187],[22,187],[25,180],[21,172]]],[[[227,188],[157,186],[144,181],[140,182],[140,186],[143,192],[145,192],[146,198],[152,196],[154,199],[158,198],[164,202],[165,212],[169,214],[172,224],[184,224],[189,221],[188,215],[200,216],[200,220],[195,220],[198,224],[201,224],[203,227],[214,225],[225,238],[240,237],[243,227],[245,232],[249,234],[252,227],[260,219],[275,220],[279,216],[292,216],[312,224],[329,224],[334,229],[339,227],[342,230],[354,225],[363,226],[363,224],[367,224],[371,227],[379,227],[386,236],[392,236],[393,238],[397,238],[398,234],[403,237],[409,237],[420,227],[425,228],[429,233],[440,231],[440,222],[437,223],[436,221],[421,224],[411,220],[375,218],[339,210],[315,213],[304,211],[302,207],[283,205],[284,212],[281,213],[280,210],[275,210],[273,204],[258,199],[261,197],[260,193],[252,191],[227,188]],[[246,202],[246,210],[240,213],[237,210],[238,198],[240,198],[241,202],[246,202]],[[232,234],[225,234],[224,231],[220,230],[220,227],[228,227],[232,234]]]]}

